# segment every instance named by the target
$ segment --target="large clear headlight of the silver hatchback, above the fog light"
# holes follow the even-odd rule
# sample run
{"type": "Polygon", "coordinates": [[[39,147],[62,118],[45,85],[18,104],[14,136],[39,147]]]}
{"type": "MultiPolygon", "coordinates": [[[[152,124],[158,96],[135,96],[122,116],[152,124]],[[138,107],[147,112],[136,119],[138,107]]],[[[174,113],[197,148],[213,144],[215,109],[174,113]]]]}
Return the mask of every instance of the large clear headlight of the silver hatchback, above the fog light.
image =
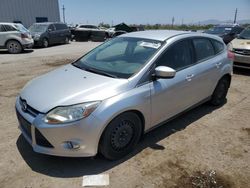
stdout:
{"type": "Polygon", "coordinates": [[[73,106],[57,107],[44,118],[45,123],[60,124],[77,121],[88,117],[100,104],[100,101],[88,102],[73,106]]]}

